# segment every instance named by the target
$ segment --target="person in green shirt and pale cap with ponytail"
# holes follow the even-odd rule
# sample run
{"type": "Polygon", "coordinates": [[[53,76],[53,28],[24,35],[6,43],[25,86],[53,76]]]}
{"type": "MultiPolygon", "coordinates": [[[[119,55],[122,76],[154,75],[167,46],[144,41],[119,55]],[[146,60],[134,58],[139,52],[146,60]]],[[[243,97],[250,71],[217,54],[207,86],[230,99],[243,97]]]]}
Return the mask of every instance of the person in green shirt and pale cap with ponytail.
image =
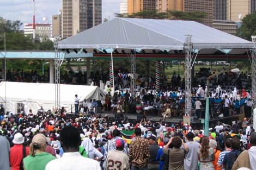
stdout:
{"type": "Polygon", "coordinates": [[[32,143],[29,145],[29,155],[23,159],[26,170],[44,170],[48,162],[56,159],[49,153],[45,152],[46,137],[43,134],[36,134],[32,143]]]}

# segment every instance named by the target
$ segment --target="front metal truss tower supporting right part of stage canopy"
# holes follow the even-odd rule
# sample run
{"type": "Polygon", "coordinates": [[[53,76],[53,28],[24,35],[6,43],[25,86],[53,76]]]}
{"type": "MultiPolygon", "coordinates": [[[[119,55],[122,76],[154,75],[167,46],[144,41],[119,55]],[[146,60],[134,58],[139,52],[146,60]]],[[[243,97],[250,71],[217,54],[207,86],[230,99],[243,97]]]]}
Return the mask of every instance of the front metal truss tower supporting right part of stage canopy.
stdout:
{"type": "Polygon", "coordinates": [[[186,50],[185,60],[185,116],[191,116],[191,67],[192,67],[192,35],[186,35],[186,41],[184,43],[184,49],[186,50]]]}

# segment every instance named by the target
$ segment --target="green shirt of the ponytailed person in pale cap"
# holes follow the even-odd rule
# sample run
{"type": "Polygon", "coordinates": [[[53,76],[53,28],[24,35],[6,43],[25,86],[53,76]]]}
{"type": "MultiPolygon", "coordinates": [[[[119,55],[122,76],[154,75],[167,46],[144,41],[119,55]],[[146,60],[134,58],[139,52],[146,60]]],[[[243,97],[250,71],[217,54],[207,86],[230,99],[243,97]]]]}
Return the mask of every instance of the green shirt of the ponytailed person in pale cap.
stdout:
{"type": "Polygon", "coordinates": [[[45,170],[46,164],[56,159],[52,154],[43,152],[35,154],[35,156],[28,155],[23,159],[26,170],[45,170]]]}

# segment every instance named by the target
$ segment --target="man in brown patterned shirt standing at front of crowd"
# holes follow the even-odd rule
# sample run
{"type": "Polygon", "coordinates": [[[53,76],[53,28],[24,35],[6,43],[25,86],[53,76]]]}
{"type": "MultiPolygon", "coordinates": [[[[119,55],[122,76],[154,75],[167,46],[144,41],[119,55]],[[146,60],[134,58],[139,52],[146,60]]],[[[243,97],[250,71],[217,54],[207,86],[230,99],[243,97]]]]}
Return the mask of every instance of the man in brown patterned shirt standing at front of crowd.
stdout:
{"type": "Polygon", "coordinates": [[[131,141],[129,146],[129,160],[131,162],[131,169],[144,170],[148,168],[149,142],[147,139],[142,138],[141,128],[135,129],[135,140],[131,141]]]}

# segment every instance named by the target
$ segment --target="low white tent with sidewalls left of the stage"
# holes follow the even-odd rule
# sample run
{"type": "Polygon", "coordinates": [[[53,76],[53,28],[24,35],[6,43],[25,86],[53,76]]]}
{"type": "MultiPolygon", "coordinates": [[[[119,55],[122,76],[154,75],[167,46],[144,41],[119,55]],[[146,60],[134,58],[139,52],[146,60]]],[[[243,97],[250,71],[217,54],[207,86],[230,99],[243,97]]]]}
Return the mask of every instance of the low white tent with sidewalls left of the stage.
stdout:
{"type": "MultiPolygon", "coordinates": [[[[104,100],[106,92],[97,86],[60,84],[60,105],[66,111],[75,111],[74,100],[78,95],[80,102],[84,99],[104,100]]],[[[5,100],[5,82],[0,83],[0,102],[5,100]]],[[[16,114],[23,106],[26,113],[32,109],[36,113],[42,106],[44,110],[55,108],[55,84],[6,82],[6,111],[16,114]]]]}

